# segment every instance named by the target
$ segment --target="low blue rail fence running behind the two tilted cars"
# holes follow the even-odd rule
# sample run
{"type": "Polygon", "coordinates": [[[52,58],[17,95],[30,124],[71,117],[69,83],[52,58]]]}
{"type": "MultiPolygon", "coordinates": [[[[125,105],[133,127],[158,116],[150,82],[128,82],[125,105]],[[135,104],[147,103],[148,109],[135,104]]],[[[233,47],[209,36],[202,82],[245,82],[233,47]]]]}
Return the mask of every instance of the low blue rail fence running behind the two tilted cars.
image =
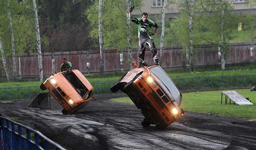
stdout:
{"type": "MultiPolygon", "coordinates": [[[[256,85],[256,75],[232,75],[232,76],[206,76],[186,77],[173,79],[181,91],[234,89],[256,85]]],[[[95,94],[111,94],[111,85],[115,82],[94,82],[92,86],[95,94]]],[[[33,99],[38,92],[42,92],[39,86],[0,87],[0,100],[33,99]]],[[[117,94],[121,91],[117,92],[117,94]]]]}

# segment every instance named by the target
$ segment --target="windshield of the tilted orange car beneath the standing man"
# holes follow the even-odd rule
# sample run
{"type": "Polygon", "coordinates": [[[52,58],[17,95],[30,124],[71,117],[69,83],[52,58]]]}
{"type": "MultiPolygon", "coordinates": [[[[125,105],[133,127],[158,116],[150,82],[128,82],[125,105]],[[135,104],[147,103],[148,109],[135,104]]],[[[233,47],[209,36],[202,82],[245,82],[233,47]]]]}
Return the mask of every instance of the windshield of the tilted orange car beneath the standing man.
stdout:
{"type": "Polygon", "coordinates": [[[165,73],[165,71],[159,66],[152,66],[151,68],[149,68],[149,70],[159,79],[159,86],[162,89],[167,88],[170,92],[171,97],[173,97],[173,99],[177,101],[178,104],[180,104],[180,91],[174,84],[173,80],[171,80],[170,77],[165,73]]]}

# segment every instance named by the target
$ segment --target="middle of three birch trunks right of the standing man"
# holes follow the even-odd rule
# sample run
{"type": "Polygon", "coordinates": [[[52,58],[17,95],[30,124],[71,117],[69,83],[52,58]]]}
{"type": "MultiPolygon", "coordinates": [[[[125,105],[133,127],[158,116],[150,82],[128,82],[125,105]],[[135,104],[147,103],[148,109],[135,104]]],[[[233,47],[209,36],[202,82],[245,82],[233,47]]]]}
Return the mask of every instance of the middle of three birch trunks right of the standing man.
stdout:
{"type": "Polygon", "coordinates": [[[194,68],[194,50],[193,50],[193,15],[194,15],[194,0],[189,1],[189,71],[194,68]]]}

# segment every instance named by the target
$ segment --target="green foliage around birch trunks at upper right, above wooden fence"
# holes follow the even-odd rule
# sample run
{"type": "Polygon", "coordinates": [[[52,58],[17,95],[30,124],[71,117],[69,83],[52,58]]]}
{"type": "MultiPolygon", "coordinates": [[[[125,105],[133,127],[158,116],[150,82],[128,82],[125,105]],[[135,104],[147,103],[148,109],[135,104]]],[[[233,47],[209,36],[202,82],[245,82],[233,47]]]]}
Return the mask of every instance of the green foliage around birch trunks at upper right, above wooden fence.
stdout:
{"type": "MultiPolygon", "coordinates": [[[[232,13],[233,8],[229,2],[225,1],[195,1],[193,17],[194,45],[199,44],[217,44],[221,45],[221,12],[225,9],[224,32],[227,42],[232,39],[230,34],[232,30],[237,30],[240,15],[232,13]],[[223,7],[225,6],[225,8],[223,7]]],[[[170,23],[166,28],[167,32],[173,33],[166,39],[173,43],[188,47],[189,28],[188,28],[188,10],[186,5],[181,5],[181,17],[170,23]]]]}

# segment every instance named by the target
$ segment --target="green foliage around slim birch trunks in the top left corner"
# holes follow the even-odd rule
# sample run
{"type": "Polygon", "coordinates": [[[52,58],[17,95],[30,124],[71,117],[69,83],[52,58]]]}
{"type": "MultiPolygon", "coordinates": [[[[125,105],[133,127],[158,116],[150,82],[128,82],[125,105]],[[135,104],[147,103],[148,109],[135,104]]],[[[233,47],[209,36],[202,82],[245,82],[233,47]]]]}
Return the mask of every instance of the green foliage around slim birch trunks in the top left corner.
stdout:
{"type": "MultiPolygon", "coordinates": [[[[36,51],[35,17],[31,1],[9,0],[16,53],[36,51]]],[[[7,56],[11,56],[11,33],[6,1],[0,4],[0,34],[7,56]]]]}

